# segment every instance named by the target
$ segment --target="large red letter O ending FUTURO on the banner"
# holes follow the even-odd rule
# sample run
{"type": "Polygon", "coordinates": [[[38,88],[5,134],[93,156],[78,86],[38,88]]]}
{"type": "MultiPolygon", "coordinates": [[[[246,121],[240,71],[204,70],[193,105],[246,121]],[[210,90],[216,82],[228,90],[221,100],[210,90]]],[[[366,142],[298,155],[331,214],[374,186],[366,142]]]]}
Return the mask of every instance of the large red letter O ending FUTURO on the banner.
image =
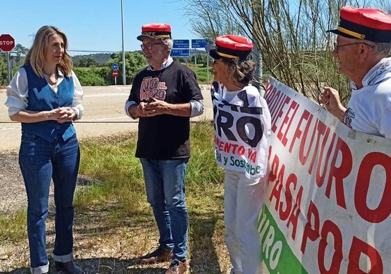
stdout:
{"type": "MultiPolygon", "coordinates": [[[[358,215],[364,220],[372,223],[383,222],[391,214],[391,158],[380,152],[371,152],[365,155],[358,169],[357,181],[354,190],[354,204],[358,215]],[[385,170],[385,187],[383,193],[372,193],[380,195],[381,201],[377,208],[371,209],[367,205],[369,185],[371,184],[371,173],[374,167],[381,166],[385,170]]],[[[373,182],[378,184],[380,182],[373,182]]]]}

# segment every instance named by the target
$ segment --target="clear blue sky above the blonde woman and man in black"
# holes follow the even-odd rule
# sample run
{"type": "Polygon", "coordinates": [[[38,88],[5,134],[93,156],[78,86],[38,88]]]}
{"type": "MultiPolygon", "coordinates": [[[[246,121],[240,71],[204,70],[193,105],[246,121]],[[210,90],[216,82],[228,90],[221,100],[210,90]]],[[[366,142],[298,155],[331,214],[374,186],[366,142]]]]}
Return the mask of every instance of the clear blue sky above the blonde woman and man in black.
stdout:
{"type": "MultiPolygon", "coordinates": [[[[200,38],[192,33],[185,0],[122,3],[125,51],[140,50],[136,37],[143,24],[170,24],[174,40],[200,38]]],[[[33,35],[44,25],[66,33],[72,56],[122,51],[121,0],[0,0],[0,35],[10,34],[15,45],[31,47],[33,35]]]]}

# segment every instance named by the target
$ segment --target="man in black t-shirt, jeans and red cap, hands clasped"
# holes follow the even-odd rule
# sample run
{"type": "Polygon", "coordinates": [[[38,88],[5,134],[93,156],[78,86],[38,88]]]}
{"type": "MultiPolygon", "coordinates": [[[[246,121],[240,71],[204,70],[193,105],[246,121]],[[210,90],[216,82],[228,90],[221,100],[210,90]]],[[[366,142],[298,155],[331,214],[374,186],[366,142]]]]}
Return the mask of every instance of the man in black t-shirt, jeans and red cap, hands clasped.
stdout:
{"type": "Polygon", "coordinates": [[[136,157],[160,234],[158,249],[141,257],[141,264],[171,260],[166,274],[185,273],[190,117],[204,112],[204,100],[194,72],[170,56],[168,24],[144,25],[137,39],[148,67],[135,75],[125,112],[139,118],[136,157]]]}

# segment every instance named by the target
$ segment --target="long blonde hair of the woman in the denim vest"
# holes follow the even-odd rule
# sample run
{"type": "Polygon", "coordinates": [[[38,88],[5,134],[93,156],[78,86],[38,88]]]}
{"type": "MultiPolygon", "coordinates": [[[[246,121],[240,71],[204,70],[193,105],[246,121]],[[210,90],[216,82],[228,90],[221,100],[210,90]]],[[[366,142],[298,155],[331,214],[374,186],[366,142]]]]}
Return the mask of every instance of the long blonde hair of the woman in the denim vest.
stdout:
{"type": "Polygon", "coordinates": [[[43,66],[45,65],[45,56],[47,52],[47,46],[50,36],[57,34],[63,38],[64,41],[64,53],[60,63],[57,65],[57,69],[61,70],[63,75],[70,76],[72,74],[72,59],[68,54],[68,39],[66,34],[63,33],[56,26],[42,26],[36,33],[33,46],[27,52],[24,64],[30,63],[34,73],[43,77],[43,66]]]}

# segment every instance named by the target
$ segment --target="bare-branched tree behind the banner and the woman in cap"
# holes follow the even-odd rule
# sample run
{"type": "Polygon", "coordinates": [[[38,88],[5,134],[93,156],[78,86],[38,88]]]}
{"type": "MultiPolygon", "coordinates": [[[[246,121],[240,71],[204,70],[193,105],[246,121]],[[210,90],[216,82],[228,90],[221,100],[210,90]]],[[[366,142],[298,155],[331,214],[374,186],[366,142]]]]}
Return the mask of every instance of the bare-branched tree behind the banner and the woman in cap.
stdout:
{"type": "Polygon", "coordinates": [[[363,0],[187,0],[194,32],[208,40],[222,34],[247,36],[261,53],[263,78],[269,76],[317,100],[323,86],[347,100],[348,79],[332,58],[342,6],[364,7],[363,0]]]}

